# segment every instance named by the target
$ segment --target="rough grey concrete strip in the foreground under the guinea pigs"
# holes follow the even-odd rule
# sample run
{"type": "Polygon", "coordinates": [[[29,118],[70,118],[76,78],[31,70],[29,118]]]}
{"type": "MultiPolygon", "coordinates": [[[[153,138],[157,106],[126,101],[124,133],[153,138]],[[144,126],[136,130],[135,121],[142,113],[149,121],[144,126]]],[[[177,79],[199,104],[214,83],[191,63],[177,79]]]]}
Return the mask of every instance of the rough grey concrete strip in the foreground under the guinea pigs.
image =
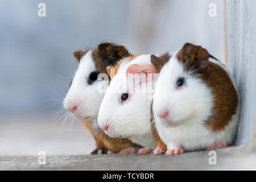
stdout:
{"type": "Polygon", "coordinates": [[[217,164],[210,165],[208,151],[183,155],[76,155],[47,156],[38,164],[38,156],[2,156],[1,170],[256,170],[255,151],[245,147],[217,150],[217,164]]]}

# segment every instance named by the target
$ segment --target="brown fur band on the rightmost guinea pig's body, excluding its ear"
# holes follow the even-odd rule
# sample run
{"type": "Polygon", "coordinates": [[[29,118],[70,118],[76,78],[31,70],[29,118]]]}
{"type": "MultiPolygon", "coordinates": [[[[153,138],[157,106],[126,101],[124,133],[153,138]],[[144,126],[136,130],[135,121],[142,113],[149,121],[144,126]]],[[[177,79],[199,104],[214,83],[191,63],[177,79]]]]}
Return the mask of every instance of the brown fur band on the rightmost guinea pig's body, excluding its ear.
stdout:
{"type": "Polygon", "coordinates": [[[205,125],[212,131],[224,130],[225,126],[236,114],[238,94],[228,74],[219,65],[210,63],[207,70],[209,74],[202,76],[209,85],[214,96],[213,117],[205,121],[205,125]]]}

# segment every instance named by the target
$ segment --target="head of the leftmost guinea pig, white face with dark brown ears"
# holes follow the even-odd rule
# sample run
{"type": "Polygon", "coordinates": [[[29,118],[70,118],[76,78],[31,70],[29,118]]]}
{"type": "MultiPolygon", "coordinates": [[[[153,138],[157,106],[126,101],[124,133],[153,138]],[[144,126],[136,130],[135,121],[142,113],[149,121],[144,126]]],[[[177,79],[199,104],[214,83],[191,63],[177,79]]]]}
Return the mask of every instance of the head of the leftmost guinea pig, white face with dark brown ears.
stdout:
{"type": "Polygon", "coordinates": [[[98,109],[109,85],[106,72],[129,52],[123,46],[101,43],[94,50],[73,52],[79,67],[64,98],[63,106],[81,121],[96,121],[98,109]]]}

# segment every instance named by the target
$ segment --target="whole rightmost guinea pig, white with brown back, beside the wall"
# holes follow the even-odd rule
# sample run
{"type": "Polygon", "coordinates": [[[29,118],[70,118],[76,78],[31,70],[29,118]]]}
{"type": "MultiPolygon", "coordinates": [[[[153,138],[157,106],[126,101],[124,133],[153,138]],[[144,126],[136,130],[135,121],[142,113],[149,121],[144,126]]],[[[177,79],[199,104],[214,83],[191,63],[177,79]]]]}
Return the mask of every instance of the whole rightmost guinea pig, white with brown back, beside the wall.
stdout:
{"type": "MultiPolygon", "coordinates": [[[[154,62],[160,70],[162,65],[154,62]]],[[[236,83],[225,65],[206,49],[185,44],[160,70],[154,93],[155,126],[167,145],[166,154],[232,144],[239,102],[236,83]]]]}

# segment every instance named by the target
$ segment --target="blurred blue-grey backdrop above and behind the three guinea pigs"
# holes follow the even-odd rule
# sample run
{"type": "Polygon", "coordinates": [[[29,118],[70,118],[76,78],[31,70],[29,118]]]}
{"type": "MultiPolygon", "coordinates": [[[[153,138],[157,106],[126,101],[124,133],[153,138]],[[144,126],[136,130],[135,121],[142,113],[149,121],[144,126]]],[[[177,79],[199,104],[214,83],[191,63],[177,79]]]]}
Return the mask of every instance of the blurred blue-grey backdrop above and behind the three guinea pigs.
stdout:
{"type": "Polygon", "coordinates": [[[0,2],[1,114],[48,111],[64,96],[77,65],[72,52],[100,42],[132,53],[164,53],[186,42],[224,60],[223,2],[212,1],[10,1],[0,2]],[[38,4],[46,3],[46,17],[38,4]]]}

